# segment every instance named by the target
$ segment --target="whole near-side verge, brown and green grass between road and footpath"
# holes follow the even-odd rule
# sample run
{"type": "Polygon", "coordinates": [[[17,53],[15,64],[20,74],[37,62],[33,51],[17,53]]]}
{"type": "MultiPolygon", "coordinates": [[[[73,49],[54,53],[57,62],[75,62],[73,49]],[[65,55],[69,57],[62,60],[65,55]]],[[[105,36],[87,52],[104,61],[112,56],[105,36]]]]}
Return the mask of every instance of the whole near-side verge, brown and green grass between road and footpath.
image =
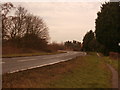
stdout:
{"type": "Polygon", "coordinates": [[[111,72],[97,55],[4,74],[3,88],[111,88],[111,72]]]}

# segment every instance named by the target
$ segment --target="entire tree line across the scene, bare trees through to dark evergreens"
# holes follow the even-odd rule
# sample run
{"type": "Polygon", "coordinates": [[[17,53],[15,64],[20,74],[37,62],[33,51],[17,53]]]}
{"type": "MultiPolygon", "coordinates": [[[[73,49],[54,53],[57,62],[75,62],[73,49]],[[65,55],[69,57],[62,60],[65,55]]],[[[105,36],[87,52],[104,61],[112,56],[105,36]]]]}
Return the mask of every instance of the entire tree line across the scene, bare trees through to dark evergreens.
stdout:
{"type": "Polygon", "coordinates": [[[0,8],[3,47],[12,45],[18,48],[49,52],[57,50],[97,51],[104,55],[108,55],[111,51],[120,52],[119,2],[102,4],[95,20],[95,32],[92,30],[87,32],[83,43],[73,40],[61,44],[48,44],[49,29],[42,18],[29,13],[24,7],[15,7],[12,3],[1,4],[0,8]]]}

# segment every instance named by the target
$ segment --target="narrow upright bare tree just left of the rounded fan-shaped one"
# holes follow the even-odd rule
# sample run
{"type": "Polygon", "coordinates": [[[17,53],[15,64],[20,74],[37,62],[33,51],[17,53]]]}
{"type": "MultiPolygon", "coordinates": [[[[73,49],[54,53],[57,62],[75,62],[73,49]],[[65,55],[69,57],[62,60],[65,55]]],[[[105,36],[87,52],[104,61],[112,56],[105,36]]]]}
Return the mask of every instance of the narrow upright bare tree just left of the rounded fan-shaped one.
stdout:
{"type": "Polygon", "coordinates": [[[9,34],[12,39],[21,38],[25,33],[25,20],[27,10],[19,6],[15,12],[15,16],[10,18],[11,28],[9,28],[9,34]]]}

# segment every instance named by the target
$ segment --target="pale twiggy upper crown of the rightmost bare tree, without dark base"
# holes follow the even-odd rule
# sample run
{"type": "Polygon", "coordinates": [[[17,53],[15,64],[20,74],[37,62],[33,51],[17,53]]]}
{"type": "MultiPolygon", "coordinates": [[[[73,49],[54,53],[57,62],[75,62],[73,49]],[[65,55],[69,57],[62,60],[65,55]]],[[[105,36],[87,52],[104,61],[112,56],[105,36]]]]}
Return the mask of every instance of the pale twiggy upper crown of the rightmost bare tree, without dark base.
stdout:
{"type": "Polygon", "coordinates": [[[26,34],[35,34],[41,39],[49,39],[48,27],[43,19],[32,14],[26,17],[26,34]]]}

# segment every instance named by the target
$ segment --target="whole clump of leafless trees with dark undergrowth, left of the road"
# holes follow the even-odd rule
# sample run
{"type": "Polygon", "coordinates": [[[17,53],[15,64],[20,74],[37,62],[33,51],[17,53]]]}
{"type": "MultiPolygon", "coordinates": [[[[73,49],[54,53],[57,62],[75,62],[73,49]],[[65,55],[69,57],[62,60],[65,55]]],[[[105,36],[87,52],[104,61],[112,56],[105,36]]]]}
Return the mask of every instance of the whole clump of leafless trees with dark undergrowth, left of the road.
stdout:
{"type": "Polygon", "coordinates": [[[3,46],[45,49],[49,40],[48,27],[42,18],[12,3],[0,5],[3,46]],[[14,12],[14,13],[13,13],[14,12]]]}

